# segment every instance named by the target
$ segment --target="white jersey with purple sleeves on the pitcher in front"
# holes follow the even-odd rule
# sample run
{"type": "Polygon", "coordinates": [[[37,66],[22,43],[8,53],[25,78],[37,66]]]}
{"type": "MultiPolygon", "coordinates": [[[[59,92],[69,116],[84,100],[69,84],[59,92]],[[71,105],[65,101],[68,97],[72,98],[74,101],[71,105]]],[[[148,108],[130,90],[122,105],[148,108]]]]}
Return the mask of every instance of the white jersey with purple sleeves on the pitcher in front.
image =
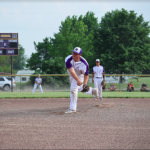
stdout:
{"type": "Polygon", "coordinates": [[[66,57],[65,63],[66,63],[66,68],[69,69],[73,67],[77,75],[79,74],[89,75],[89,65],[83,57],[80,56],[80,61],[75,62],[73,60],[72,55],[69,55],[66,57]]]}

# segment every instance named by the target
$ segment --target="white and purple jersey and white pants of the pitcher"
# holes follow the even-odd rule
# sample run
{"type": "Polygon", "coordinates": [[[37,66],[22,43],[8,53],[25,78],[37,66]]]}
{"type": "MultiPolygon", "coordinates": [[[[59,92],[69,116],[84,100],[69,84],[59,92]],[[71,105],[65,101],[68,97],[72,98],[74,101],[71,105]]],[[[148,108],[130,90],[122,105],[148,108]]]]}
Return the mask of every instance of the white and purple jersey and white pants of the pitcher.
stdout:
{"type": "MultiPolygon", "coordinates": [[[[80,61],[75,62],[72,58],[72,55],[69,55],[68,57],[66,57],[65,63],[68,69],[71,67],[74,68],[81,82],[84,81],[84,74],[89,75],[89,65],[83,57],[80,57],[80,61]]],[[[77,81],[71,76],[69,71],[68,71],[68,74],[70,76],[70,84],[71,84],[70,86],[70,109],[76,111],[78,91],[80,92],[83,90],[83,85],[78,86],[77,81]]],[[[86,94],[92,95],[91,87],[89,88],[89,91],[86,92],[86,94]]]]}

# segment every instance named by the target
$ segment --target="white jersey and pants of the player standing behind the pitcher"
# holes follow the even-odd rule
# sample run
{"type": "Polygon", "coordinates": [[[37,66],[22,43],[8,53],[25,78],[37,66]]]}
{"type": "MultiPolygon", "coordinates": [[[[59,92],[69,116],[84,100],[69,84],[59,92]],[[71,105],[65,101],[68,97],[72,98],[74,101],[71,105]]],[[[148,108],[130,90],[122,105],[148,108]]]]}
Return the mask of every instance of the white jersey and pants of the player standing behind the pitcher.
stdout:
{"type": "Polygon", "coordinates": [[[103,81],[103,73],[105,72],[103,66],[94,66],[93,73],[94,73],[94,86],[98,89],[99,97],[102,98],[102,86],[101,82],[103,81]]]}

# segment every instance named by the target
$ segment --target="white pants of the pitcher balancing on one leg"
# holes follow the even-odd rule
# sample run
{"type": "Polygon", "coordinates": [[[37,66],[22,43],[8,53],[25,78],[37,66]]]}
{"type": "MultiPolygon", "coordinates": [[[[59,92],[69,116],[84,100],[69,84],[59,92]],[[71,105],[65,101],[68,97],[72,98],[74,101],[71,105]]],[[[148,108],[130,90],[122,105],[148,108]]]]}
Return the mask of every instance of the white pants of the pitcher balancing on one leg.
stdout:
{"type": "MultiPolygon", "coordinates": [[[[83,82],[84,76],[78,76],[78,78],[83,82]]],[[[83,90],[83,85],[78,86],[77,81],[74,78],[70,78],[70,109],[75,110],[77,109],[77,97],[78,91],[81,92],[83,90]]],[[[92,88],[89,88],[89,91],[86,94],[92,95],[92,88]]]]}

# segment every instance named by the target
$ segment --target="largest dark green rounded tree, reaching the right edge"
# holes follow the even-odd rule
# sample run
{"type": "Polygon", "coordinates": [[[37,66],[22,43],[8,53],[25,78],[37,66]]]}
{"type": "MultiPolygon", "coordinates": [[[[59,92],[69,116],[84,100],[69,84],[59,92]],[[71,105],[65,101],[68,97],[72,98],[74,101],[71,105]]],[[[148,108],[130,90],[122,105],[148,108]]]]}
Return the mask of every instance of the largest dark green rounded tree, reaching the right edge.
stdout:
{"type": "Polygon", "coordinates": [[[150,65],[150,26],[125,9],[107,12],[98,29],[96,52],[107,73],[139,73],[150,65]]]}

